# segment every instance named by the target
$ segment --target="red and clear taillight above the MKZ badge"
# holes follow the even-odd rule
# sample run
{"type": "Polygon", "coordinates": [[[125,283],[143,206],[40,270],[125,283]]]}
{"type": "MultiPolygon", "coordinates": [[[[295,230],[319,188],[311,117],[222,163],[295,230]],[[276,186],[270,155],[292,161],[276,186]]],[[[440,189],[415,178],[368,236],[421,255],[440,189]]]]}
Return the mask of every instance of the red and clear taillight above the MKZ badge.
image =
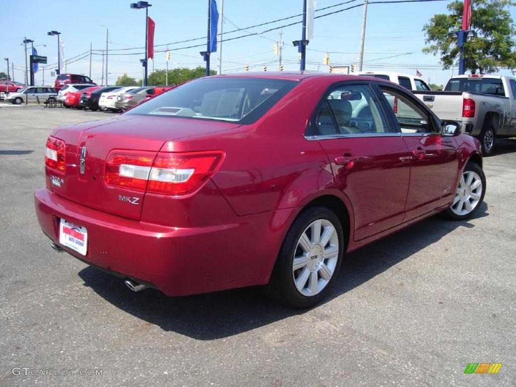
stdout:
{"type": "Polygon", "coordinates": [[[198,189],[219,168],[224,153],[112,151],[106,161],[107,185],[185,195],[198,189]]]}

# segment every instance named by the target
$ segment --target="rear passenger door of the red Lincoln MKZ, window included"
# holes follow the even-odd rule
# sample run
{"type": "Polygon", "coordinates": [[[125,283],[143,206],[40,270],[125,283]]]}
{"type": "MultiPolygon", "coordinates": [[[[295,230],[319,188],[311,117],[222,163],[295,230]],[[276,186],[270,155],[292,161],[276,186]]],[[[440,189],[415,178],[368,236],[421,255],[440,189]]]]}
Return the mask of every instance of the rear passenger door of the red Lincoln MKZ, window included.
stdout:
{"type": "Polygon", "coordinates": [[[353,206],[354,239],[401,223],[410,157],[374,90],[367,83],[335,85],[320,102],[310,129],[328,155],[335,184],[353,206]]]}

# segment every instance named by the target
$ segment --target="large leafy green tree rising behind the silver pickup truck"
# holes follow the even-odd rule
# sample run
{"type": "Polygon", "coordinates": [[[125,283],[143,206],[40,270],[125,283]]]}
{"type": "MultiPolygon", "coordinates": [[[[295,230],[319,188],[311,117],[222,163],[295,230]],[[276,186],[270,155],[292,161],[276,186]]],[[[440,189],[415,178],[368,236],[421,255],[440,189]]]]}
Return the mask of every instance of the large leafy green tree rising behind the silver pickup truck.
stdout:
{"type": "MultiPolygon", "coordinates": [[[[516,26],[509,12],[514,5],[511,0],[472,0],[471,29],[477,36],[464,44],[466,70],[487,74],[516,68],[516,26]]],[[[423,27],[428,44],[423,52],[440,55],[443,69],[459,58],[457,39],[448,34],[462,28],[463,2],[456,0],[447,8],[449,14],[436,14],[423,27]]]]}

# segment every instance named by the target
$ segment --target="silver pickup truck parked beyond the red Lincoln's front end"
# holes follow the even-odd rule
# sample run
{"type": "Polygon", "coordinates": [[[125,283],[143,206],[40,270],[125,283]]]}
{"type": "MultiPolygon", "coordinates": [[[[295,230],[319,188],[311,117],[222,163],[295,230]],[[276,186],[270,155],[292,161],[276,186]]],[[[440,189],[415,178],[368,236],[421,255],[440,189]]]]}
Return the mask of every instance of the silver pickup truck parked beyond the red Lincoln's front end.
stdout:
{"type": "Polygon", "coordinates": [[[516,78],[500,75],[451,77],[444,91],[414,91],[441,120],[459,121],[462,133],[477,137],[482,152],[495,138],[516,137],[516,78]]]}

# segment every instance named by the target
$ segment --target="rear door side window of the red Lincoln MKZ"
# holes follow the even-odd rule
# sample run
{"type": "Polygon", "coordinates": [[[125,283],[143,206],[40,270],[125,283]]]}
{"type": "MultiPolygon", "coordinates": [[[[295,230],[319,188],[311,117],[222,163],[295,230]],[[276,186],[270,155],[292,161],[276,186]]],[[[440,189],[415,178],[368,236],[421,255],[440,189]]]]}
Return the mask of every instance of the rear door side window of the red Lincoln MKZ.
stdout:
{"type": "Polygon", "coordinates": [[[390,131],[372,89],[337,87],[319,104],[309,135],[364,136],[390,131]]]}

